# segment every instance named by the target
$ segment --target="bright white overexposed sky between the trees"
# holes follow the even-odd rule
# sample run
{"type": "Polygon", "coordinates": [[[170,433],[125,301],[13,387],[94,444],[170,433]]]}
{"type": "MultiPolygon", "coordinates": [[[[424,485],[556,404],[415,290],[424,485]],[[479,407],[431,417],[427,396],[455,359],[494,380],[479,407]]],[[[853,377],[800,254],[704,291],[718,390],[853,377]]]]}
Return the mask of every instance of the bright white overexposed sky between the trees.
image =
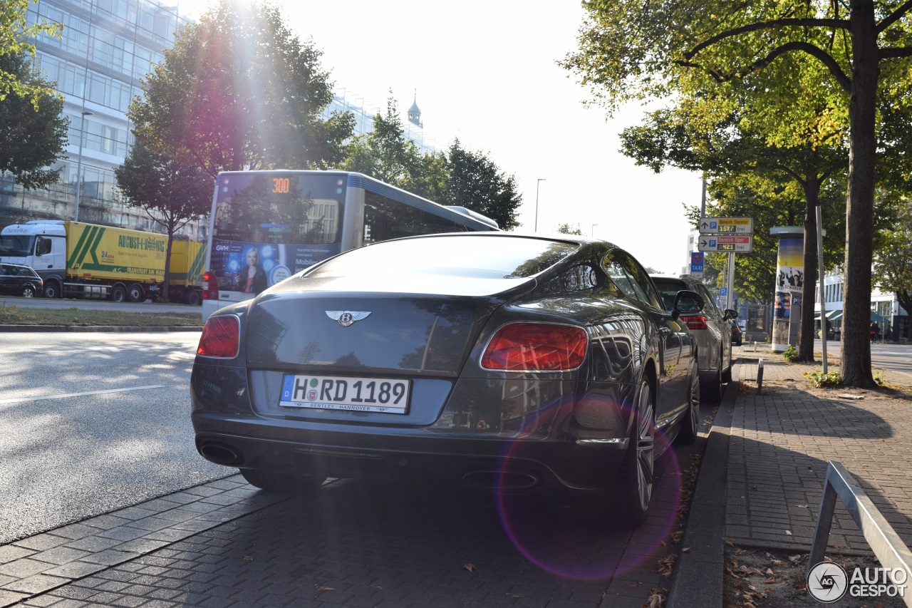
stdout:
{"type": "MultiPolygon", "coordinates": [[[[682,204],[700,204],[700,174],[653,173],[618,152],[618,134],[644,110],[629,106],[607,119],[604,109],[586,108],[587,89],[555,63],[575,50],[585,15],[578,0],[273,4],[322,50],[322,67],[349,100],[383,111],[391,90],[406,121],[417,99],[436,148],[458,138],[513,175],[523,196],[516,232],[570,224],[659,272],[689,264],[682,204]]],[[[200,11],[207,3],[180,5],[200,11]]]]}

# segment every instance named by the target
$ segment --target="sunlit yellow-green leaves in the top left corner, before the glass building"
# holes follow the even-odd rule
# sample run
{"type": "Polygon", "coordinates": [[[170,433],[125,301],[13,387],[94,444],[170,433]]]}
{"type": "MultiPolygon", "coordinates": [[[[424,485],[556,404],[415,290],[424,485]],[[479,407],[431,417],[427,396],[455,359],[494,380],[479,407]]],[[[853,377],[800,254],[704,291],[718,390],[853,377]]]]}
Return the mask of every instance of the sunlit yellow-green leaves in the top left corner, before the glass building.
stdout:
{"type": "MultiPolygon", "coordinates": [[[[35,57],[35,45],[30,39],[39,34],[60,36],[63,29],[61,24],[48,24],[42,19],[35,25],[26,26],[26,11],[28,5],[37,4],[38,0],[4,0],[0,2],[0,57],[6,55],[18,56],[23,53],[35,57]]],[[[27,81],[21,79],[22,73],[16,68],[16,63],[0,65],[0,101],[10,93],[30,100],[37,110],[38,101],[48,94],[53,94],[54,89],[43,81],[27,81]],[[14,69],[11,69],[14,68],[14,69]]]]}

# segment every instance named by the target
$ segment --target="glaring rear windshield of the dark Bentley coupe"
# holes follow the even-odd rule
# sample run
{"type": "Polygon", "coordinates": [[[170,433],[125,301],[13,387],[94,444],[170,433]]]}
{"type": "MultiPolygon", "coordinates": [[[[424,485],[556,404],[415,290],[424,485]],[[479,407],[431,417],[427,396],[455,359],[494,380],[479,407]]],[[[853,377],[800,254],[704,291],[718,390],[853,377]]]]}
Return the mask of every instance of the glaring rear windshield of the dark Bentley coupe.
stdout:
{"type": "Polygon", "coordinates": [[[554,266],[573,243],[522,236],[427,236],[385,241],[330,259],[310,278],[406,270],[458,277],[524,278],[554,266]]]}

